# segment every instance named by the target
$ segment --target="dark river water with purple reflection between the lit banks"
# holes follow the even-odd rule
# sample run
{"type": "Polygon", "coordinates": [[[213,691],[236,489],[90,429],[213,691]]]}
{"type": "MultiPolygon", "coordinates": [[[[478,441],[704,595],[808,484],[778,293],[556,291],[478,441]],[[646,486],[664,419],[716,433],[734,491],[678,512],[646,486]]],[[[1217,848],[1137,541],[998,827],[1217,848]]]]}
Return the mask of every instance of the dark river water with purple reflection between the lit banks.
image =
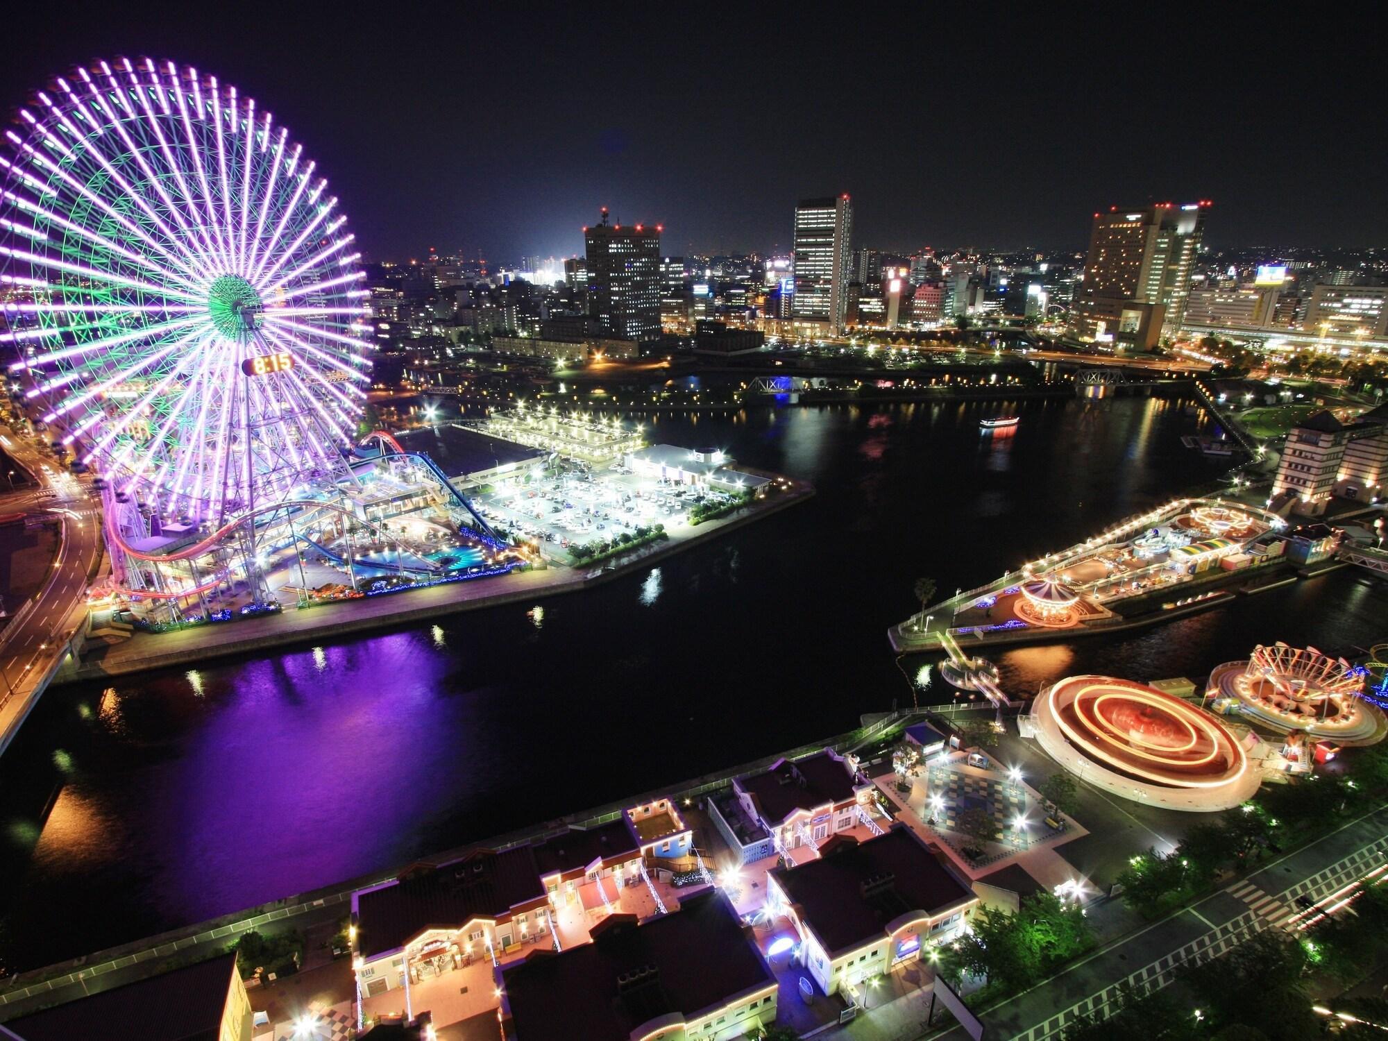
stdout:
{"type": "MultiPolygon", "coordinates": [[[[1001,437],[977,426],[997,404],[661,416],[654,440],[819,496],[543,618],[50,691],[0,761],[0,956],[43,965],[845,730],[911,697],[886,629],[919,575],[976,586],[1219,473],[1181,447],[1206,422],[1183,401],[1016,408],[1001,437]]],[[[1019,688],[1203,675],[1258,640],[1367,643],[1385,608],[1342,573],[999,665],[1019,688]]]]}

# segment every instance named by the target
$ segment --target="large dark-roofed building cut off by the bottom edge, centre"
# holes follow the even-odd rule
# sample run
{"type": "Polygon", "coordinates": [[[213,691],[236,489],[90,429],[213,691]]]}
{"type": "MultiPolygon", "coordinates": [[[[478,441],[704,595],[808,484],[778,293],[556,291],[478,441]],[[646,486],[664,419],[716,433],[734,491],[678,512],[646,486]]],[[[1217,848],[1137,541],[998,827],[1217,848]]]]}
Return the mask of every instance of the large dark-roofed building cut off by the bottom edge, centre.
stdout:
{"type": "Polygon", "coordinates": [[[612,915],[593,942],[534,954],[496,981],[515,1041],[727,1041],[776,1022],[776,976],[720,890],[643,926],[612,915]]]}

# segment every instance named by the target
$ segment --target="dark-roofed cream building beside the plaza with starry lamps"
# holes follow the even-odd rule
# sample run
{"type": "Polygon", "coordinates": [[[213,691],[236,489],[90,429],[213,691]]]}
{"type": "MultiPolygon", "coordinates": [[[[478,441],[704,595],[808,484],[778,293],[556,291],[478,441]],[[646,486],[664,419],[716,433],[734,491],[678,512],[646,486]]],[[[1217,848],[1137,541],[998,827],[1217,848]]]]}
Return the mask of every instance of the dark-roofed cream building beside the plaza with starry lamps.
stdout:
{"type": "Polygon", "coordinates": [[[826,995],[911,965],[922,947],[954,938],[979,904],[899,823],[863,843],[836,836],[820,852],[766,873],[766,911],[794,924],[799,960],[826,995]]]}

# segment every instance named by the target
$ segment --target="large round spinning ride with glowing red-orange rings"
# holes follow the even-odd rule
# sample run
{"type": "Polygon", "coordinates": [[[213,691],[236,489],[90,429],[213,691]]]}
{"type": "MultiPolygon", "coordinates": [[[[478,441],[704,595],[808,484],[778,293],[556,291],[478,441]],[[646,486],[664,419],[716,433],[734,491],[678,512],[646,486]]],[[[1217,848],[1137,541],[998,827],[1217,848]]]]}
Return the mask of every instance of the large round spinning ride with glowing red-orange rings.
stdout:
{"type": "Polygon", "coordinates": [[[1124,798],[1208,812],[1258,791],[1258,772],[1228,729],[1153,687],[1070,676],[1044,691],[1031,715],[1056,762],[1124,798]]]}

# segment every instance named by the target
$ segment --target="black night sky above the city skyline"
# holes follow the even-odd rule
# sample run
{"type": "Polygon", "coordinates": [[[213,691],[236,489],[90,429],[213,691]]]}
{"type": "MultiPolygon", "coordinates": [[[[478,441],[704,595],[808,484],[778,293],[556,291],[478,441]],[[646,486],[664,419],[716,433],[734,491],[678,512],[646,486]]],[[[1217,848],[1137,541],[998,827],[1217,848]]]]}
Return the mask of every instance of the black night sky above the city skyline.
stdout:
{"type": "Polygon", "coordinates": [[[841,192],[886,250],[1078,248],[1099,207],[1195,198],[1214,244],[1388,240],[1370,7],[132,7],[7,14],[0,105],[194,64],[290,128],[373,260],[572,254],[602,204],[670,254],[784,250],[841,192]]]}

